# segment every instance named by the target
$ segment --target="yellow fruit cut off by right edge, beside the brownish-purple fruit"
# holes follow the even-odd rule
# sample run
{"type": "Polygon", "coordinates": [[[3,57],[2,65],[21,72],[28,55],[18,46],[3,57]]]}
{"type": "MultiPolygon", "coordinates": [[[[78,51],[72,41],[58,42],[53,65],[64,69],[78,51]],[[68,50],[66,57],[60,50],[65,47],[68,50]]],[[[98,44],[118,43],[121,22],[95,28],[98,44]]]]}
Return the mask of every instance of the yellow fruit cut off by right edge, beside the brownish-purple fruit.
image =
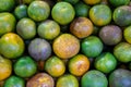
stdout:
{"type": "Polygon", "coordinates": [[[124,28],[123,37],[129,44],[131,44],[131,26],[124,28]]]}

